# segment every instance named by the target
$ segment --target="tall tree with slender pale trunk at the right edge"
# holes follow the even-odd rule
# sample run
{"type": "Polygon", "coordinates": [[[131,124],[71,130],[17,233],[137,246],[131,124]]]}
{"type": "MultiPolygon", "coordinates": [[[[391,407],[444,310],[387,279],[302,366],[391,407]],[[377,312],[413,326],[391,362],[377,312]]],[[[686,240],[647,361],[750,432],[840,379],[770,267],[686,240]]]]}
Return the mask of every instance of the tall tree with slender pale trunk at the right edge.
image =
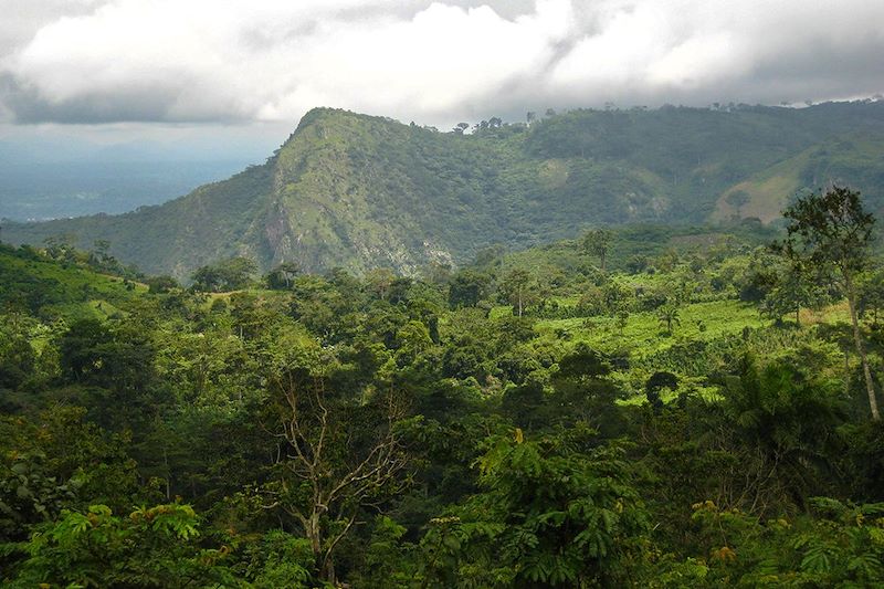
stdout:
{"type": "Polygon", "coordinates": [[[825,193],[800,197],[786,209],[787,238],[775,244],[793,263],[819,277],[830,276],[848,298],[853,340],[863,366],[869,407],[880,420],[869,358],[863,346],[856,308],[856,276],[869,262],[869,245],[875,218],[863,210],[860,192],[833,186],[825,193]]]}

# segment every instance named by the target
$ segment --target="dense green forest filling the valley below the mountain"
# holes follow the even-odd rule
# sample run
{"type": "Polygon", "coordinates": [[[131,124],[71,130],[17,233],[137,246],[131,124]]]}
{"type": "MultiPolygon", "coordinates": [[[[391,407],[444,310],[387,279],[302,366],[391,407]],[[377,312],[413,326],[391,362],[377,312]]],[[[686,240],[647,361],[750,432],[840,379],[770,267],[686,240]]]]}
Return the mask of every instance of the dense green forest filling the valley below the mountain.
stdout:
{"type": "Polygon", "coordinates": [[[878,246],[854,306],[776,236],[630,227],[419,278],[238,256],[188,288],[0,246],[0,578],[881,585],[878,246]]]}

